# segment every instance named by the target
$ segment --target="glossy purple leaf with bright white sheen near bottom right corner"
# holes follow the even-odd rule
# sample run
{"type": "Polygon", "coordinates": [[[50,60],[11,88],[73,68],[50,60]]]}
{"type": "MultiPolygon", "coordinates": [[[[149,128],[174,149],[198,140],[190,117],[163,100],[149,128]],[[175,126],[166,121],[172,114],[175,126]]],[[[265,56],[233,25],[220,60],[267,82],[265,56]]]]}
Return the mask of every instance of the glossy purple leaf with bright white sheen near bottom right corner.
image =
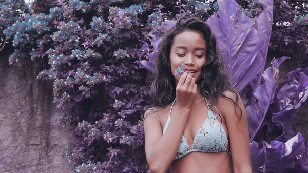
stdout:
{"type": "Polygon", "coordinates": [[[266,146],[266,159],[262,166],[263,172],[281,173],[295,168],[296,157],[303,155],[305,145],[303,136],[298,133],[287,142],[272,141],[271,144],[263,141],[266,146]]]}

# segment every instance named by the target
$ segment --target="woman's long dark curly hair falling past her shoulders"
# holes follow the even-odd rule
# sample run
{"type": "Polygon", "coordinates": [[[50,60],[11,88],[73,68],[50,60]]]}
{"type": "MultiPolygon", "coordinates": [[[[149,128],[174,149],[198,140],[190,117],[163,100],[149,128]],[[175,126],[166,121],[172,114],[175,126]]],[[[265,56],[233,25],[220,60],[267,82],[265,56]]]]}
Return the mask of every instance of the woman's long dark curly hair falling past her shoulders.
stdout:
{"type": "MultiPolygon", "coordinates": [[[[200,86],[201,94],[204,97],[210,97],[213,101],[209,105],[210,108],[213,109],[219,95],[223,98],[230,99],[234,103],[235,108],[236,106],[240,108],[236,89],[224,70],[223,60],[217,47],[216,37],[211,32],[210,27],[197,17],[180,18],[159,43],[155,59],[156,72],[150,73],[147,79],[147,82],[150,82],[152,87],[155,87],[150,95],[149,108],[157,108],[157,111],[165,109],[166,106],[176,98],[176,81],[174,75],[171,73],[170,67],[170,49],[171,45],[174,43],[175,36],[186,30],[194,30],[201,33],[206,42],[206,62],[201,67],[201,79],[198,81],[197,85],[200,86]],[[236,94],[236,102],[224,94],[226,90],[236,94]]],[[[216,109],[213,111],[218,113],[216,109]]],[[[242,110],[241,115],[238,117],[241,119],[242,110]]]]}

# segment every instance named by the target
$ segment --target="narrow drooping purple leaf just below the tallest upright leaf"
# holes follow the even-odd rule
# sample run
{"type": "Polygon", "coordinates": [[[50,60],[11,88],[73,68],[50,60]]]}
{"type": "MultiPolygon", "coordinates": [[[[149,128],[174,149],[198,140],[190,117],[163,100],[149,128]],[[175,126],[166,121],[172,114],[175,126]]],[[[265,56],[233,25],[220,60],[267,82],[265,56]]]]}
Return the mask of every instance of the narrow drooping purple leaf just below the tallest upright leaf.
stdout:
{"type": "Polygon", "coordinates": [[[272,67],[267,68],[262,75],[264,84],[259,85],[254,91],[254,103],[246,107],[250,141],[256,136],[264,121],[269,105],[274,101],[275,77],[277,75],[274,72],[277,69],[274,64],[280,65],[285,59],[286,57],[281,57],[281,59],[276,59],[271,62],[272,67]]]}

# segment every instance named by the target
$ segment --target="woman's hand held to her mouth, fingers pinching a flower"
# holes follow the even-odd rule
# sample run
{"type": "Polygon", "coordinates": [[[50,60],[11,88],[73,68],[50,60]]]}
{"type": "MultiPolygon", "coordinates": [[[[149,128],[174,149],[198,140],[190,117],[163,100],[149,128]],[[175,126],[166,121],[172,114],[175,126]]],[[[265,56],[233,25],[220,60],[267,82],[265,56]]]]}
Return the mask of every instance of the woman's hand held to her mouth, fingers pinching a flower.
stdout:
{"type": "Polygon", "coordinates": [[[190,109],[195,102],[197,95],[196,79],[192,78],[187,72],[182,74],[176,88],[177,104],[180,108],[190,109]]]}

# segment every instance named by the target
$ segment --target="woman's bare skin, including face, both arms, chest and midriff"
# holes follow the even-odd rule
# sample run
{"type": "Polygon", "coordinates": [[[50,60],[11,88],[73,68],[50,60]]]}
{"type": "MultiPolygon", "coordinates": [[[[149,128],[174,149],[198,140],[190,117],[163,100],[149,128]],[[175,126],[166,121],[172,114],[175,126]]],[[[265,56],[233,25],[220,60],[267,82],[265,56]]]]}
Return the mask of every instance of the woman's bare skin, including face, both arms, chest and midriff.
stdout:
{"type": "MultiPolygon", "coordinates": [[[[206,42],[199,32],[187,30],[175,36],[170,52],[171,72],[175,74],[175,69],[184,63],[186,69],[195,70],[196,73],[175,75],[177,98],[171,112],[172,120],[164,134],[163,128],[172,103],[157,112],[156,108],[145,112],[145,153],[152,173],[166,172],[169,167],[171,173],[232,173],[233,170],[235,173],[252,173],[247,114],[240,98],[240,120],[237,115],[241,115],[241,110],[234,106],[232,100],[218,97],[215,104],[221,115],[218,121],[229,141],[227,149],[232,156],[226,151],[192,152],[174,160],[182,134],[192,148],[196,133],[207,118],[206,101],[200,93],[200,86],[196,84],[201,77],[201,66],[206,62],[205,51],[206,42]]],[[[225,91],[224,94],[236,101],[233,92],[225,91]]]]}

